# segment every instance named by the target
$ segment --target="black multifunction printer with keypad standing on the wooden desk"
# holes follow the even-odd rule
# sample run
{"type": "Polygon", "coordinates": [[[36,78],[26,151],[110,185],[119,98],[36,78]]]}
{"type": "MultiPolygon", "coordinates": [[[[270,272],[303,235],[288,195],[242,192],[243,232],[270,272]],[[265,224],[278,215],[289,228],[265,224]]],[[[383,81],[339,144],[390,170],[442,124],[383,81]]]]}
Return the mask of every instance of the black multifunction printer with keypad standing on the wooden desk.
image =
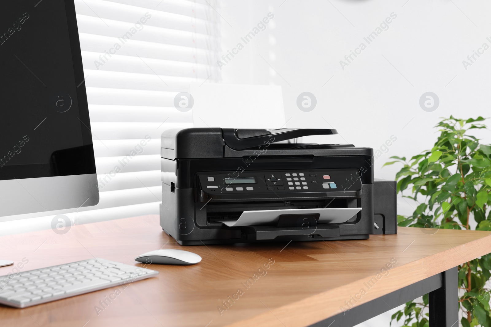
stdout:
{"type": "Polygon", "coordinates": [[[335,129],[169,129],[160,225],[181,245],[366,239],[397,233],[396,182],[373,149],[303,144],[335,129]]]}

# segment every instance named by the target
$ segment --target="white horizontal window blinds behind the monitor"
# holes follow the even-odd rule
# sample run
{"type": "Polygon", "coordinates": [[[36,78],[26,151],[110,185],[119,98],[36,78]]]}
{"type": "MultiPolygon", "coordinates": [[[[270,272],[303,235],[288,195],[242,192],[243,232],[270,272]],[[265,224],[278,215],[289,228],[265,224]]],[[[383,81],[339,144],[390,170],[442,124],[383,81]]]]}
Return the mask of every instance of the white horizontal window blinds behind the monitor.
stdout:
{"type": "Polygon", "coordinates": [[[174,107],[190,83],[217,82],[218,0],[75,0],[100,202],[3,217],[0,234],[158,214],[160,135],[192,127],[174,107]],[[8,222],[7,222],[8,221],[8,222]]]}

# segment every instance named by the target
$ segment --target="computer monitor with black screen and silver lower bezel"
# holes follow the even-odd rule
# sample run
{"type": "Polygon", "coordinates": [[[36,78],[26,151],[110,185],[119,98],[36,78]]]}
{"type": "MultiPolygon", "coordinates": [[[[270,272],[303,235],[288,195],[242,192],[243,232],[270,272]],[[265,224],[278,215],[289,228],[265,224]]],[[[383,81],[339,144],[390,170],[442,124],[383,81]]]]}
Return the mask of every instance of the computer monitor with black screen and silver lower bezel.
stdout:
{"type": "Polygon", "coordinates": [[[99,202],[73,0],[0,2],[0,216],[99,202]]]}

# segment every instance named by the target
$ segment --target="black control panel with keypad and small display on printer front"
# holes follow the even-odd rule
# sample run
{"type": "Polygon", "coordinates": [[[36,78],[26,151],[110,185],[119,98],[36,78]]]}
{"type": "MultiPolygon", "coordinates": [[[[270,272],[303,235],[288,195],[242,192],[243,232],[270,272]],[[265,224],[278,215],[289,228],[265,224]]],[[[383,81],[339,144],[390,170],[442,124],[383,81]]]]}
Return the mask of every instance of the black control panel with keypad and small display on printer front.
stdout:
{"type": "Polygon", "coordinates": [[[238,193],[345,192],[361,189],[357,169],[197,173],[209,195],[238,193]]]}

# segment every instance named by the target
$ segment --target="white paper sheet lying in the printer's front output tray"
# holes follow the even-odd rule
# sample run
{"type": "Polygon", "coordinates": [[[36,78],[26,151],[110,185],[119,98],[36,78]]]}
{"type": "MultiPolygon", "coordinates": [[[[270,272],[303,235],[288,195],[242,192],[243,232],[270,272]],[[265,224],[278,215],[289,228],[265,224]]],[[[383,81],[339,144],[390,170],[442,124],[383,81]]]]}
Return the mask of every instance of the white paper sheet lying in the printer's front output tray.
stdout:
{"type": "Polygon", "coordinates": [[[274,224],[280,215],[320,214],[320,224],[339,224],[350,220],[361,208],[280,209],[244,211],[238,220],[218,220],[229,227],[274,224]]]}

